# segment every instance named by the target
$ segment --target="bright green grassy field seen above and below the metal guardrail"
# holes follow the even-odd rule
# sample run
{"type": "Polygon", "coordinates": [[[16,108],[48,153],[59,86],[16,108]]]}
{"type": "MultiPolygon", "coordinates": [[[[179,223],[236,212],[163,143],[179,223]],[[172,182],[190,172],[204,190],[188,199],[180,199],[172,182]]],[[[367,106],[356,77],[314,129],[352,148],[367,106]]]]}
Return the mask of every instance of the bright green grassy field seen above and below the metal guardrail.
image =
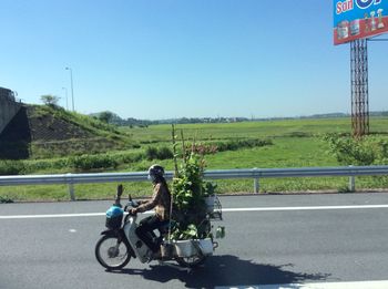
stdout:
{"type": "MultiPolygon", "coordinates": [[[[286,120],[227,124],[188,124],[177,125],[177,134],[183,132],[186,143],[226,142],[231,140],[269,140],[272,145],[225,151],[206,155],[207,169],[227,168],[283,168],[283,167],[324,167],[338,166],[334,156],[327,153],[328,144],[321,140],[326,133],[349,133],[349,118],[321,120],[286,120]]],[[[153,125],[149,127],[120,127],[131,142],[140,144],[139,148],[121,152],[109,152],[114,157],[136,155],[149,146],[171,146],[171,125],[153,125]]],[[[371,117],[370,132],[388,140],[388,117],[371,117]]],[[[61,163],[65,159],[27,161],[37,167],[41,162],[41,169],[34,174],[76,173],[68,167],[48,166],[48,163],[61,163]]],[[[173,169],[172,159],[164,161],[129,161],[120,163],[115,169],[103,172],[140,172],[145,171],[152,163],[160,163],[167,171],[173,169]]],[[[39,167],[39,166],[38,166],[39,167]]],[[[261,193],[290,192],[345,192],[347,178],[293,178],[293,179],[261,179],[261,193]]],[[[253,179],[217,180],[219,194],[252,193],[253,179]]],[[[75,186],[78,199],[112,197],[116,184],[91,184],[75,186]]],[[[149,183],[126,183],[125,190],[134,196],[151,194],[149,183]]],[[[386,178],[360,177],[356,180],[357,189],[387,188],[386,178]]],[[[69,199],[67,186],[19,186],[0,187],[0,198],[4,200],[38,200],[38,199],[69,199]]]]}

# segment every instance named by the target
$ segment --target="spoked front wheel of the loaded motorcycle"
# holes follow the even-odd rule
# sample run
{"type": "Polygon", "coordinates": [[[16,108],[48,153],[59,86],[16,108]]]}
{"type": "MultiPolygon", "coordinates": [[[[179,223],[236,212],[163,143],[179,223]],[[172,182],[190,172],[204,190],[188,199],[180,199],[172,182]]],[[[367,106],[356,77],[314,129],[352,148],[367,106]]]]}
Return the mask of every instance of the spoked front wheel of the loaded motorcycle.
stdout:
{"type": "Polygon", "coordinates": [[[98,261],[109,270],[121,269],[131,260],[130,248],[119,236],[102,236],[94,252],[98,261]]]}

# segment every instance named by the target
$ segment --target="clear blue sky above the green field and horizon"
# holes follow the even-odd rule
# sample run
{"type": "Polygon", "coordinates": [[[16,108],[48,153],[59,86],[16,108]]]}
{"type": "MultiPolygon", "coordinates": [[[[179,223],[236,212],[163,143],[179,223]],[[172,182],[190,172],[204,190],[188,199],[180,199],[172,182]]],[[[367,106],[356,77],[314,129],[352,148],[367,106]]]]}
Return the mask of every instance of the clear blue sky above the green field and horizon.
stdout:
{"type": "MultiPolygon", "coordinates": [[[[331,0],[0,0],[0,86],[25,103],[70,72],[80,113],[121,117],[350,112],[331,0]]],[[[387,37],[386,37],[387,38],[387,37]]],[[[369,42],[370,110],[388,110],[388,42],[369,42]]]]}

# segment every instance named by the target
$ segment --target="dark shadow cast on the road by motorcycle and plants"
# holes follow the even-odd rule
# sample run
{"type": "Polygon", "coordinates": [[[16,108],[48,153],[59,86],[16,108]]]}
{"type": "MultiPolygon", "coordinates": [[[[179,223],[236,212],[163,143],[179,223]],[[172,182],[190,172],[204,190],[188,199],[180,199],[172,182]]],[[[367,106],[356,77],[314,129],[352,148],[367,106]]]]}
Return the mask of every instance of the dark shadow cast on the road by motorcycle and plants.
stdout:
{"type": "Polygon", "coordinates": [[[144,279],[167,282],[178,279],[186,288],[214,288],[217,286],[248,286],[295,283],[326,280],[329,273],[304,273],[287,270],[293,265],[263,265],[242,260],[235,256],[213,256],[204,266],[190,272],[167,266],[151,265],[150,269],[123,269],[120,273],[142,275],[144,279]]]}

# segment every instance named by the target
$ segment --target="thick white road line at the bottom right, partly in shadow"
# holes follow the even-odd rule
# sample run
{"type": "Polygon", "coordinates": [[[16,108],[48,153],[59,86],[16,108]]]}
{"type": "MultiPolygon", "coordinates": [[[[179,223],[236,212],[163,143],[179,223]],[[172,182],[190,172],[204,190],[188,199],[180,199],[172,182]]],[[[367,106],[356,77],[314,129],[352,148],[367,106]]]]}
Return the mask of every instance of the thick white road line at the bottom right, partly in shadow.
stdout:
{"type": "Polygon", "coordinates": [[[218,286],[215,289],[387,289],[388,281],[218,286]]]}

